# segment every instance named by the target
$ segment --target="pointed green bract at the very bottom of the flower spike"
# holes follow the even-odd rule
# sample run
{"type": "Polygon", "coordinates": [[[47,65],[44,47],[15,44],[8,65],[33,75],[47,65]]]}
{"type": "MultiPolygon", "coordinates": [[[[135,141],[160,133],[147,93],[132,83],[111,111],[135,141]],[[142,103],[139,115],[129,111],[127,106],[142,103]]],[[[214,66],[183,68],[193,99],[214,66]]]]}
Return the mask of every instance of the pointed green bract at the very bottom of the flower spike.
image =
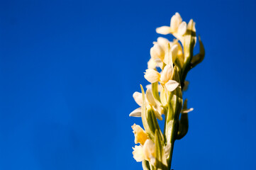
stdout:
{"type": "Polygon", "coordinates": [[[155,167],[156,169],[167,169],[167,159],[163,147],[163,140],[159,130],[155,130],[155,167]]]}

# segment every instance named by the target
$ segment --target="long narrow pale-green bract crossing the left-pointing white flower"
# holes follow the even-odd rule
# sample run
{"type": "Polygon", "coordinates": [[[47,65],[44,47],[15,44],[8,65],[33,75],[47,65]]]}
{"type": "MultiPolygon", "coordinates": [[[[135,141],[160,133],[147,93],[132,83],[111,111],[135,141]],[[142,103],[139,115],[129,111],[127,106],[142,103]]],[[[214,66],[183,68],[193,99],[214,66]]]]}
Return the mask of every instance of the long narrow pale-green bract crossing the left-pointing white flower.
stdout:
{"type": "MultiPolygon", "coordinates": [[[[143,105],[141,106],[141,119],[143,120],[143,127],[144,127],[145,131],[148,133],[150,139],[154,140],[155,131],[152,131],[151,130],[152,127],[150,128],[150,125],[148,124],[148,112],[147,112],[147,108],[146,108],[145,91],[144,91],[143,86],[141,84],[140,84],[140,88],[141,88],[141,93],[143,94],[143,105]]],[[[155,115],[155,113],[154,113],[154,115],[155,115]]]]}

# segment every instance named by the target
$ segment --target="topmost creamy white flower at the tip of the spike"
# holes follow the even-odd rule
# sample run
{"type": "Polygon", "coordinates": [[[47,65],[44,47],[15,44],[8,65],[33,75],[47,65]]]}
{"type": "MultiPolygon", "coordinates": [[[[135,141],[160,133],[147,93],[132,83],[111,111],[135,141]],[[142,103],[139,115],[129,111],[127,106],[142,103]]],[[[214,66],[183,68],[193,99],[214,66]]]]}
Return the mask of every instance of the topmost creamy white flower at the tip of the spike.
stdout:
{"type": "Polygon", "coordinates": [[[163,35],[172,34],[174,37],[183,41],[182,36],[187,31],[187,23],[182,21],[182,17],[179,15],[179,13],[175,13],[175,15],[171,18],[170,26],[162,26],[157,28],[156,31],[157,33],[163,35]]]}

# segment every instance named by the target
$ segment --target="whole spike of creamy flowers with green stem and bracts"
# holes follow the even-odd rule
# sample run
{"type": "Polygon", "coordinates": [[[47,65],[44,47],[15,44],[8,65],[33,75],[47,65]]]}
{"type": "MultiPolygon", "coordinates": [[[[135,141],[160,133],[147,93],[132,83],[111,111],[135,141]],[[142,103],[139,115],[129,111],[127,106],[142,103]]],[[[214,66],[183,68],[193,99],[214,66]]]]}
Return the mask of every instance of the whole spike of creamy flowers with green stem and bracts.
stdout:
{"type": "Polygon", "coordinates": [[[188,131],[188,114],[193,108],[187,108],[187,99],[182,99],[182,92],[187,89],[185,81],[187,73],[204,60],[204,45],[199,37],[200,52],[193,55],[196,44],[195,23],[182,21],[179,13],[171,18],[170,26],[156,29],[162,35],[172,34],[174,40],[157,38],[150,49],[148,69],[145,79],[150,82],[146,92],[135,92],[133,98],[140,108],[130,116],[140,117],[143,128],[133,125],[135,147],[133,157],[143,163],[144,170],[171,169],[174,141],[180,140],[188,131]],[[165,128],[162,132],[157,122],[163,120],[165,128]]]}

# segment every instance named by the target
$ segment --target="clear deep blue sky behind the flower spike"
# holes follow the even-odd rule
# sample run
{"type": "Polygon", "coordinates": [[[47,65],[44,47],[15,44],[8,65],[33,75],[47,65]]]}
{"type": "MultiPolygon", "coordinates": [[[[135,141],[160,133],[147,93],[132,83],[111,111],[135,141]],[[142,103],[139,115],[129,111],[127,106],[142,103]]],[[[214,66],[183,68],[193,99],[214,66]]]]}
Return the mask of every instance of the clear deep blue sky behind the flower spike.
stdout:
{"type": "MultiPolygon", "coordinates": [[[[206,48],[174,170],[256,169],[256,1],[1,1],[0,169],[142,169],[139,91],[175,12],[206,48]]],[[[172,40],[172,37],[165,36],[172,40]]],[[[199,50],[196,45],[196,52],[199,50]]]]}

